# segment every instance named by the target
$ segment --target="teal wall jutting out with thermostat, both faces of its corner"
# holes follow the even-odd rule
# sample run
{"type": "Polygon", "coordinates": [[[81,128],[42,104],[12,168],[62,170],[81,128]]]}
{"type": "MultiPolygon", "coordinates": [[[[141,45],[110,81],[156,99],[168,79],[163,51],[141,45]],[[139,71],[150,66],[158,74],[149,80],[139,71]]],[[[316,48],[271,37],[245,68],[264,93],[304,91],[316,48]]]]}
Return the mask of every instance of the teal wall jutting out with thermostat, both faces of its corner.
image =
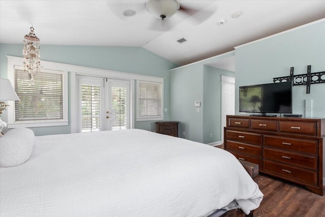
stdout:
{"type": "Polygon", "coordinates": [[[170,118],[180,121],[179,137],[202,143],[220,141],[220,76],[235,74],[206,64],[233,55],[235,52],[229,52],[170,70],[170,118]],[[201,107],[194,107],[196,101],[201,102],[201,107]]]}

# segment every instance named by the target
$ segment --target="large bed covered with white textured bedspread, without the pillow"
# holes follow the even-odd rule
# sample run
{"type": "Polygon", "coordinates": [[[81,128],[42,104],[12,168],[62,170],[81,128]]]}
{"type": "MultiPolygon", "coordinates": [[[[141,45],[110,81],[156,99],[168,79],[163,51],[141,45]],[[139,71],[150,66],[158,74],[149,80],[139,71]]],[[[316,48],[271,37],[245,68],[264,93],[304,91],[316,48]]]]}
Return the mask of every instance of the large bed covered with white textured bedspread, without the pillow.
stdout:
{"type": "Polygon", "coordinates": [[[28,160],[0,168],[0,216],[248,214],[263,199],[231,153],[182,138],[131,129],[30,141],[28,160]]]}

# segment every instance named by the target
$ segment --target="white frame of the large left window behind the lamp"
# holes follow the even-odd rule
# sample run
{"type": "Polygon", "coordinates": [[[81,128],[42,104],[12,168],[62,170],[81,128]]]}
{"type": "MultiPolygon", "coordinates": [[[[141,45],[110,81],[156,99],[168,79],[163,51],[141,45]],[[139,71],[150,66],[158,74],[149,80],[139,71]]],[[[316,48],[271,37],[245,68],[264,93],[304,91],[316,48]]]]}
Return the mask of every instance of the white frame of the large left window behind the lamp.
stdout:
{"type": "MultiPolygon", "coordinates": [[[[13,86],[15,86],[15,69],[21,69],[21,63],[19,61],[21,59],[21,63],[23,58],[16,57],[14,59],[8,59],[8,79],[11,81],[13,86]]],[[[8,101],[8,105],[10,109],[8,109],[8,129],[12,128],[30,128],[30,127],[53,127],[53,126],[67,126],[69,125],[68,120],[68,72],[67,71],[59,71],[52,70],[55,67],[48,65],[47,63],[43,63],[41,61],[43,69],[41,71],[46,73],[53,74],[61,74],[63,80],[62,86],[62,95],[63,95],[63,118],[60,120],[37,120],[37,121],[16,121],[15,120],[15,102],[8,101]]],[[[26,72],[27,73],[27,72],[26,72]]],[[[36,75],[37,76],[37,75],[36,75]]]]}

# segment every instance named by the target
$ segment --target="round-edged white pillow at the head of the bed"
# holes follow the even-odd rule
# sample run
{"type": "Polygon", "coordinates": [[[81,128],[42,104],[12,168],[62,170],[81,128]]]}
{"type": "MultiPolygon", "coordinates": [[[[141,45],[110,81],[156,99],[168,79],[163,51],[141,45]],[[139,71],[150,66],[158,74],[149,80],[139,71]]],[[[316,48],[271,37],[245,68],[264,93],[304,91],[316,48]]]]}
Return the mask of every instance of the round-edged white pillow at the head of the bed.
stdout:
{"type": "Polygon", "coordinates": [[[34,141],[34,132],[28,128],[8,131],[0,138],[0,167],[13,167],[27,161],[34,141]]]}

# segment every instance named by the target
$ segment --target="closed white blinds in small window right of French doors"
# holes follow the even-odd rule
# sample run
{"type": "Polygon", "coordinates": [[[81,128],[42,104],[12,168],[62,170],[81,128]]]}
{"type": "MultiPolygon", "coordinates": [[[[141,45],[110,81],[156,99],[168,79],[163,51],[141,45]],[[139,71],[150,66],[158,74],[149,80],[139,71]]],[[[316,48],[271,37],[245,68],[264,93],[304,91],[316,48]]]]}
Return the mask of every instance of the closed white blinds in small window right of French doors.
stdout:
{"type": "Polygon", "coordinates": [[[161,89],[161,83],[138,81],[137,118],[155,120],[163,117],[161,89]]]}

